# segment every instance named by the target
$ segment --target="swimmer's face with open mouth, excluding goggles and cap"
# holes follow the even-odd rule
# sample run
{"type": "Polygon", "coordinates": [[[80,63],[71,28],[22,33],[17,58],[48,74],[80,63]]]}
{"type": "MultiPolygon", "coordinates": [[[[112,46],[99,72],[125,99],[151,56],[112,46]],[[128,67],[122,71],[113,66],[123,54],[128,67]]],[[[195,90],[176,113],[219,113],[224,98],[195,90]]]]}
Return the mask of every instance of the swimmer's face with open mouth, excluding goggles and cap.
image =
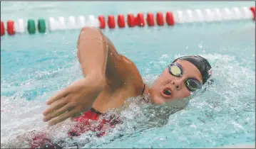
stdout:
{"type": "MultiPolygon", "coordinates": [[[[169,68],[165,68],[162,75],[156,79],[153,86],[150,88],[150,95],[153,103],[161,104],[176,104],[182,101],[185,97],[190,96],[190,91],[185,86],[185,79],[193,78],[198,80],[200,84],[203,84],[203,79],[195,65],[185,60],[177,60],[183,69],[183,75],[175,77],[170,74],[169,68]],[[166,93],[169,90],[170,93],[166,93]],[[178,101],[178,102],[177,102],[178,101]]],[[[178,105],[174,105],[178,106],[178,105]]]]}

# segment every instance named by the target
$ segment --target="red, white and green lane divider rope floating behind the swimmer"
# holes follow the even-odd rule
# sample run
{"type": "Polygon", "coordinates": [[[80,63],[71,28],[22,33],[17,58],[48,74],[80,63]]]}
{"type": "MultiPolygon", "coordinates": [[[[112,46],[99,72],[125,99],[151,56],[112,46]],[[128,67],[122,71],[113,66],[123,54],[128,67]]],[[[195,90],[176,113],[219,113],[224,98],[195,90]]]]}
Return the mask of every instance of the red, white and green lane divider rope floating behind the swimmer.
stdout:
{"type": "Polygon", "coordinates": [[[135,26],[145,27],[148,26],[174,26],[181,23],[203,23],[214,21],[232,21],[232,20],[249,20],[255,21],[255,7],[232,7],[223,9],[187,9],[185,11],[168,11],[166,13],[158,12],[147,13],[144,17],[144,13],[128,13],[127,18],[123,14],[118,14],[117,20],[115,16],[108,15],[107,21],[105,16],[100,15],[98,17],[90,15],[88,18],[85,16],[69,16],[67,19],[63,16],[58,18],[50,17],[48,21],[40,18],[37,21],[33,19],[24,20],[19,18],[17,21],[9,20],[6,22],[6,28],[4,21],[1,21],[1,36],[2,35],[15,35],[16,33],[29,33],[35,34],[46,33],[52,31],[61,31],[68,29],[83,28],[83,26],[93,26],[101,29],[104,28],[133,28],[135,26]]]}

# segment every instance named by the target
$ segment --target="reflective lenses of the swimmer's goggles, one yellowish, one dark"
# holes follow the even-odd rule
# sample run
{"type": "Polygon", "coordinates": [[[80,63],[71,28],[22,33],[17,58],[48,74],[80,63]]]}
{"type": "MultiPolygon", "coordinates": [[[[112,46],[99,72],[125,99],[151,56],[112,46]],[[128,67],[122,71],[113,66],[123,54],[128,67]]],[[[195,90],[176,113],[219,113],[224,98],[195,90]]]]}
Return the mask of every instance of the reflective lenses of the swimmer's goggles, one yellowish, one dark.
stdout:
{"type": "MultiPolygon", "coordinates": [[[[171,75],[175,77],[181,77],[183,75],[183,69],[178,63],[172,63],[168,65],[169,72],[171,75]]],[[[195,92],[198,89],[201,89],[202,85],[197,79],[187,78],[185,79],[185,86],[188,88],[190,92],[195,92]]]]}

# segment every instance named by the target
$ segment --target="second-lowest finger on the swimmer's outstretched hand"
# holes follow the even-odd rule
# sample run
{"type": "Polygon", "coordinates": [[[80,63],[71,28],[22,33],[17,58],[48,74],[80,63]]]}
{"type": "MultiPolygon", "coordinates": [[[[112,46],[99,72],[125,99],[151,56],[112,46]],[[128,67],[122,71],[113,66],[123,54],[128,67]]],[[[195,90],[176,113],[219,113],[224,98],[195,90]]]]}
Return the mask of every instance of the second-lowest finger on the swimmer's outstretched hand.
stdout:
{"type": "Polygon", "coordinates": [[[52,114],[49,114],[43,118],[43,121],[50,121],[52,118],[56,118],[57,116],[66,113],[66,111],[71,111],[73,107],[74,106],[72,104],[66,104],[65,106],[61,107],[61,109],[57,109],[56,111],[53,111],[52,114]]]}

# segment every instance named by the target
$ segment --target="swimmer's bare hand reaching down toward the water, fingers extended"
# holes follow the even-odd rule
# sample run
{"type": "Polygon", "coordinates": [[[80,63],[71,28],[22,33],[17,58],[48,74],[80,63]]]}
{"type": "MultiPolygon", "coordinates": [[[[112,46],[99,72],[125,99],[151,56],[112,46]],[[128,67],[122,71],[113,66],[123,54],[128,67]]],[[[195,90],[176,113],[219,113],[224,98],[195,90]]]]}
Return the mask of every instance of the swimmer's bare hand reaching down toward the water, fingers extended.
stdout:
{"type": "Polygon", "coordinates": [[[85,78],[74,82],[48,99],[46,104],[51,106],[43,112],[43,121],[49,121],[48,125],[52,126],[90,109],[102,89],[103,83],[99,79],[85,78]]]}

